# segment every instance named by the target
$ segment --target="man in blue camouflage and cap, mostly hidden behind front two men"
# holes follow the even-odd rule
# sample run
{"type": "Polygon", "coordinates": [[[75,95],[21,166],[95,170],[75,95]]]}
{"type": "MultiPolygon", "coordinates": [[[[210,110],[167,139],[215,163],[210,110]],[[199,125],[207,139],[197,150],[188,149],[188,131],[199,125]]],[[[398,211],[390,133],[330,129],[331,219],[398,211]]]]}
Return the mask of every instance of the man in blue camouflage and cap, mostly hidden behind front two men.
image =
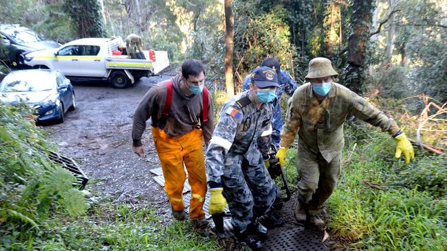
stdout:
{"type": "MultiPolygon", "coordinates": [[[[281,106],[279,106],[279,100],[283,93],[287,95],[294,94],[297,88],[295,80],[292,79],[289,73],[281,69],[281,64],[276,58],[265,58],[261,64],[261,67],[270,67],[276,71],[278,76],[278,85],[276,88],[276,99],[272,101],[274,112],[272,117],[272,143],[279,149],[279,139],[281,130],[283,130],[283,117],[281,115],[281,106]]],[[[247,91],[250,88],[251,74],[248,74],[243,80],[242,91],[247,91]]]]}

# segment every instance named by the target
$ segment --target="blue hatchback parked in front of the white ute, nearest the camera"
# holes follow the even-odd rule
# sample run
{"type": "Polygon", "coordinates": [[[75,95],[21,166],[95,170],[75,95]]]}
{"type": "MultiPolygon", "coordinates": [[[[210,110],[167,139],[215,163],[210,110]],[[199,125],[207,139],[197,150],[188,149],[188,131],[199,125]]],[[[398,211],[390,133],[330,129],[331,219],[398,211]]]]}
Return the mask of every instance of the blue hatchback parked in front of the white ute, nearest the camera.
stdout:
{"type": "Polygon", "coordinates": [[[58,70],[12,71],[0,82],[0,101],[25,102],[38,121],[62,123],[65,112],[76,109],[72,83],[58,70]]]}

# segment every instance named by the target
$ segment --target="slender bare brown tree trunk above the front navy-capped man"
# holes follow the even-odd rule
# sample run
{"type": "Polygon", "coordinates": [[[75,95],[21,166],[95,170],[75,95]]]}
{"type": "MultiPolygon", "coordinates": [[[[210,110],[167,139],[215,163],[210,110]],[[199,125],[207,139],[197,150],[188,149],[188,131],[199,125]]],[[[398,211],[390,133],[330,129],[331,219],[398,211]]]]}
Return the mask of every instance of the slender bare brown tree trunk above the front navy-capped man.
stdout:
{"type": "Polygon", "coordinates": [[[225,84],[227,95],[235,95],[235,83],[233,81],[233,22],[235,21],[231,10],[231,0],[225,0],[225,84]]]}

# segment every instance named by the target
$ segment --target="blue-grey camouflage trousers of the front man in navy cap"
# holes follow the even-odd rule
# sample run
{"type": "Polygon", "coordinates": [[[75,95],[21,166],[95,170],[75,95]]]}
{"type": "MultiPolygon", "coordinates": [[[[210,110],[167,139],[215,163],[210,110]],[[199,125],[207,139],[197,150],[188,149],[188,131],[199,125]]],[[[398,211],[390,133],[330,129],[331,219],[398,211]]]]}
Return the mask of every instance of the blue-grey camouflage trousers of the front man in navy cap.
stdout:
{"type": "Polygon", "coordinates": [[[232,225],[241,232],[269,211],[276,198],[276,185],[262,160],[259,165],[252,166],[243,158],[240,166],[232,167],[230,175],[221,176],[221,182],[232,225]]]}

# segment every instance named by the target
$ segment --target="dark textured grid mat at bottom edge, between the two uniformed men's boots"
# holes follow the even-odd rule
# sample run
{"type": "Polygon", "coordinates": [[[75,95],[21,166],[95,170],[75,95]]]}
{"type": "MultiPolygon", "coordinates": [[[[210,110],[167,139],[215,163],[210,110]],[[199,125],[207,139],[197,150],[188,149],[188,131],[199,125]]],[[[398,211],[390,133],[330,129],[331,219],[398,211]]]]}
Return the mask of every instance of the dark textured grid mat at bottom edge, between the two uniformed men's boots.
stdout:
{"type": "Polygon", "coordinates": [[[313,228],[295,226],[293,228],[281,228],[274,235],[268,235],[263,241],[262,250],[294,250],[294,251],[325,251],[329,250],[321,239],[323,232],[313,228]]]}

